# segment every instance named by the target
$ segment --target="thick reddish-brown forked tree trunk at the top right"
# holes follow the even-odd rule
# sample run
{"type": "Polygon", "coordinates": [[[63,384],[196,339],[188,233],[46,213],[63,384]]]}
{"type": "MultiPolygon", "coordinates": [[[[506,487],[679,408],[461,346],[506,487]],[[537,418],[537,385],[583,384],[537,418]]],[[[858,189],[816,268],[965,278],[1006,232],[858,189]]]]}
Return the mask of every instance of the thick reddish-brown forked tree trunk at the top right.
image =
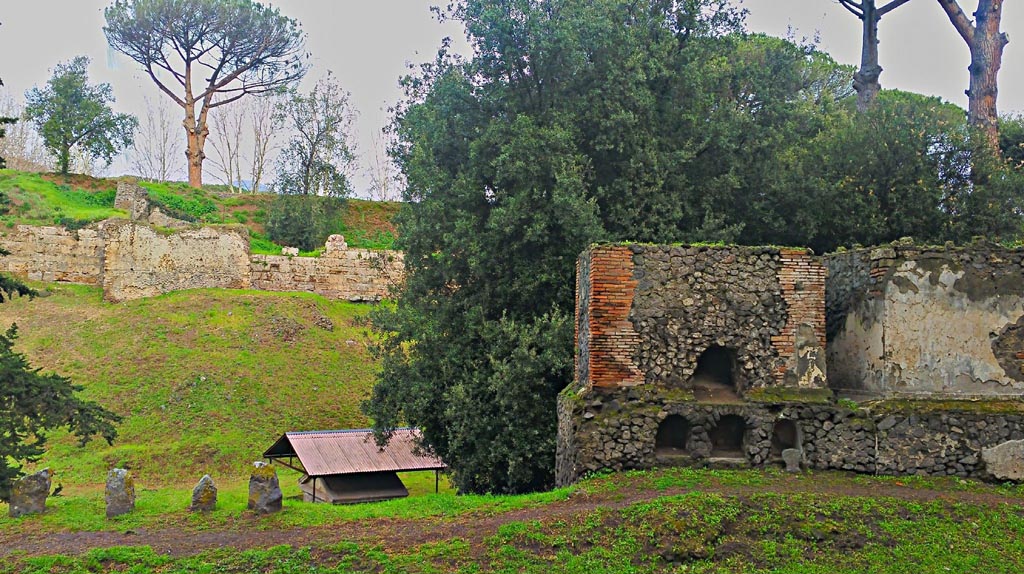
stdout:
{"type": "Polygon", "coordinates": [[[971,86],[967,90],[968,122],[981,129],[992,149],[998,149],[999,126],[995,100],[997,76],[1002,65],[1002,49],[1010,39],[999,32],[1002,0],[979,0],[975,24],[961,9],[956,0],[938,0],[949,21],[971,49],[971,86]]]}

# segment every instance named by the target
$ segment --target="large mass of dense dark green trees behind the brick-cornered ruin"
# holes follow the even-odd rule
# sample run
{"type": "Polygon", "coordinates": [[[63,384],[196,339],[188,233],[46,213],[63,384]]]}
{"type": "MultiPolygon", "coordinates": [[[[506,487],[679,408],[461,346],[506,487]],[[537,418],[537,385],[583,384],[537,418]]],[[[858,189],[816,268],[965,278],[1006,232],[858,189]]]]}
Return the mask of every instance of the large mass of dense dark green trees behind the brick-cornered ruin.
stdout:
{"type": "Polygon", "coordinates": [[[743,34],[724,0],[463,0],[442,15],[474,53],[442,49],[404,80],[407,277],[374,316],[383,367],[364,409],[382,437],[421,427],[462,490],[551,484],[592,241],[823,251],[1020,231],[1019,177],[965,179],[962,115],[883,92],[865,121],[852,68],[743,34]]]}

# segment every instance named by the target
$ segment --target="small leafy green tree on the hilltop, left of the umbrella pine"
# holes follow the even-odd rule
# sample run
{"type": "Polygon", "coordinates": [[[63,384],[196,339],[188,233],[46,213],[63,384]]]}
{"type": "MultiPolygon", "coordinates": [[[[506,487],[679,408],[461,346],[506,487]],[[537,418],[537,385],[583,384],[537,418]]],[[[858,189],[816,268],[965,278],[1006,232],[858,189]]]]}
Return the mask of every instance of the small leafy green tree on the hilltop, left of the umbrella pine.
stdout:
{"type": "Polygon", "coordinates": [[[111,109],[114,92],[110,84],[89,84],[88,65],[85,56],[59,63],[45,88],[25,94],[25,116],[36,125],[61,174],[70,169],[73,147],[111,165],[115,156],[131,145],[138,126],[133,116],[111,109]]]}

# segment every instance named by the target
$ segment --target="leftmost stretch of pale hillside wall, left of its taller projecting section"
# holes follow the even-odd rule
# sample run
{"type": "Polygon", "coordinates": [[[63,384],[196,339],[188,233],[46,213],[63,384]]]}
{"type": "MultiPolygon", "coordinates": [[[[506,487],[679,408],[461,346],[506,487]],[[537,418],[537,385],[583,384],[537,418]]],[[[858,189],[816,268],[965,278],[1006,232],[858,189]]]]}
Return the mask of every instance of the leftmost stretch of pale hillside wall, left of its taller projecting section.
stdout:
{"type": "Polygon", "coordinates": [[[0,233],[0,271],[36,281],[99,284],[103,274],[102,226],[69,231],[63,227],[15,225],[0,233]]]}

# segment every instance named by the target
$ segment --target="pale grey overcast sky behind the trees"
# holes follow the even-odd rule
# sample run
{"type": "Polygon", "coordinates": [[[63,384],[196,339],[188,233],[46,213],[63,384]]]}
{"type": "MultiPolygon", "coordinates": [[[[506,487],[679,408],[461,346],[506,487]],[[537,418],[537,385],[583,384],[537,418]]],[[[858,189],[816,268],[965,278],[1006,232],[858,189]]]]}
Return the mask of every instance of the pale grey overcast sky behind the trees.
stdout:
{"type": "MultiPolygon", "coordinates": [[[[457,51],[467,52],[462,30],[454,23],[438,24],[430,12],[441,0],[275,0],[285,15],[302,24],[311,69],[301,88],[308,89],[327,71],[351,92],[358,111],[357,151],[364,154],[353,174],[357,194],[365,194],[367,156],[373,139],[387,122],[387,108],[401,98],[398,78],[410,63],[432,59],[441,39],[451,37],[457,51]]],[[[883,3],[883,0],[879,0],[883,3]]],[[[111,50],[102,33],[103,8],[110,0],[0,0],[0,78],[20,99],[26,90],[43,86],[59,61],[76,55],[92,59],[93,82],[114,88],[117,112],[141,116],[143,96],[163,97],[144,78],[138,64],[111,50]],[[40,30],[45,29],[45,38],[40,30]]],[[[819,47],[843,63],[860,58],[860,21],[836,0],[743,0],[748,28],[773,36],[816,40],[819,47]]],[[[961,0],[968,13],[977,0],[961,0]]],[[[1002,29],[1010,36],[999,74],[1001,113],[1024,113],[1024,6],[1007,2],[1002,29]],[[1019,39],[1019,41],[1017,41],[1019,39]]],[[[882,85],[937,95],[967,106],[970,52],[934,0],[911,0],[887,14],[880,26],[882,85]]],[[[181,135],[184,137],[183,133],[181,135]]],[[[209,145],[209,143],[208,143],[209,145]]],[[[210,150],[207,151],[210,156],[210,150]]],[[[127,170],[117,161],[108,170],[127,170]]],[[[209,167],[207,181],[212,181],[209,167]]],[[[181,178],[184,178],[183,161],[181,178]]]]}

